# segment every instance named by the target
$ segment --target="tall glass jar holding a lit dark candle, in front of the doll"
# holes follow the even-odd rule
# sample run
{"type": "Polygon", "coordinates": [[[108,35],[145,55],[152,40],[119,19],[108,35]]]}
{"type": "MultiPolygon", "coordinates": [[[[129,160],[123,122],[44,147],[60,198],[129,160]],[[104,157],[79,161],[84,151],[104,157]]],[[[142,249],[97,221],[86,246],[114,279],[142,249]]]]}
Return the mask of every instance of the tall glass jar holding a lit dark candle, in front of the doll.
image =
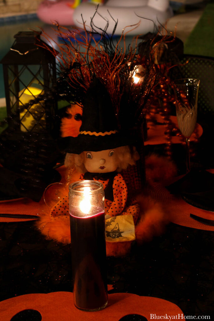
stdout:
{"type": "Polygon", "coordinates": [[[71,184],[69,209],[74,305],[98,311],[108,303],[103,185],[71,184]]]}

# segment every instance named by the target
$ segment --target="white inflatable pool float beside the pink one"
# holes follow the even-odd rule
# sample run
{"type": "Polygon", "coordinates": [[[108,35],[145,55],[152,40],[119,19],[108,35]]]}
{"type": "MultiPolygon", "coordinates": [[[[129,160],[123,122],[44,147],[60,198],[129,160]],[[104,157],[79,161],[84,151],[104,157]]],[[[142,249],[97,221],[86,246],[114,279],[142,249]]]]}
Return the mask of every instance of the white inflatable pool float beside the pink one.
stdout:
{"type": "Polygon", "coordinates": [[[115,27],[115,21],[118,20],[116,35],[121,35],[126,26],[132,26],[125,30],[130,30],[129,35],[136,35],[157,31],[154,30],[154,24],[158,27],[173,15],[169,0],[108,0],[105,4],[99,4],[97,12],[96,8],[97,4],[95,3],[83,2],[79,4],[73,13],[75,25],[82,28],[84,21],[86,29],[90,30],[90,22],[93,17],[94,27],[104,30],[108,22],[107,32],[111,34],[115,27]],[[140,22],[139,26],[132,30],[133,25],[138,22],[140,22]]]}

